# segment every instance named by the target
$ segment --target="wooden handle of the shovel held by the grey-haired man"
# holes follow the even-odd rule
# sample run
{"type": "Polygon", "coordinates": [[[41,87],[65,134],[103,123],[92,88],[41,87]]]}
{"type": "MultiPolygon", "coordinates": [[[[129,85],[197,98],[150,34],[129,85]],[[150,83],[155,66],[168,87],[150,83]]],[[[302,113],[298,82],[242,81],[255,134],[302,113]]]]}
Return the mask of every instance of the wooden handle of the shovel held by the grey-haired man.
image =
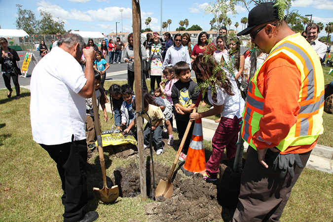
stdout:
{"type": "Polygon", "coordinates": [[[103,151],[103,145],[102,145],[102,137],[101,137],[101,126],[100,126],[100,117],[98,114],[98,108],[97,108],[97,101],[96,101],[96,92],[95,92],[95,86],[93,89],[93,97],[91,98],[93,102],[93,111],[94,111],[94,124],[95,124],[95,132],[97,137],[97,143],[98,143],[98,154],[100,156],[100,164],[102,169],[102,176],[103,176],[103,188],[107,187],[107,172],[105,167],[105,160],[104,160],[104,151],[103,151]]]}

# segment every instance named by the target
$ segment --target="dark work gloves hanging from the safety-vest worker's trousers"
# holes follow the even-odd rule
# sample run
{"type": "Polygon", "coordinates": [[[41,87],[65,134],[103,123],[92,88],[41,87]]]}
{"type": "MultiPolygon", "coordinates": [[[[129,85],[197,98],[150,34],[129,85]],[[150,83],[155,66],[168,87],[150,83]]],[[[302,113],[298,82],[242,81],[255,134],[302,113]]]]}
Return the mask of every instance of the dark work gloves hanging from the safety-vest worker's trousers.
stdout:
{"type": "Polygon", "coordinates": [[[277,154],[273,162],[273,170],[276,170],[277,166],[281,170],[280,177],[284,178],[289,172],[291,178],[295,177],[294,174],[294,164],[297,164],[299,168],[303,168],[302,161],[298,153],[289,153],[289,154],[277,154]]]}

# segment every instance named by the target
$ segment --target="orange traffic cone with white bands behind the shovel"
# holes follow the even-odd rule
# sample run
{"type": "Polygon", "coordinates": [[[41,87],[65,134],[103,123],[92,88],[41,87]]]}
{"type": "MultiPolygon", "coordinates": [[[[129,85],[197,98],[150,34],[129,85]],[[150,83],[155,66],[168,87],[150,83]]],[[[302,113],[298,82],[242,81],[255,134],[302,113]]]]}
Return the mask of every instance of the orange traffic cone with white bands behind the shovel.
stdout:
{"type": "MultiPolygon", "coordinates": [[[[201,118],[195,120],[192,140],[188,147],[184,169],[185,171],[192,172],[191,174],[206,170],[201,118]]],[[[187,175],[187,173],[185,174],[187,175]]]]}

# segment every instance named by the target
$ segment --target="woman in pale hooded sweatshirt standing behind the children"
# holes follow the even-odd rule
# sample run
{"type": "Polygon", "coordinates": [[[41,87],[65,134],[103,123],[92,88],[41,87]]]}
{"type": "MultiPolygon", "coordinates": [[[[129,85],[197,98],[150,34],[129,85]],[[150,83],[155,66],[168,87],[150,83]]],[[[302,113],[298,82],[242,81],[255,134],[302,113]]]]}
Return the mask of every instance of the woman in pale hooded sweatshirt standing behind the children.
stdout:
{"type": "Polygon", "coordinates": [[[168,49],[165,55],[162,70],[169,64],[175,66],[176,63],[180,61],[186,62],[191,69],[190,57],[187,48],[183,46],[182,35],[176,34],[173,45],[168,49]]]}

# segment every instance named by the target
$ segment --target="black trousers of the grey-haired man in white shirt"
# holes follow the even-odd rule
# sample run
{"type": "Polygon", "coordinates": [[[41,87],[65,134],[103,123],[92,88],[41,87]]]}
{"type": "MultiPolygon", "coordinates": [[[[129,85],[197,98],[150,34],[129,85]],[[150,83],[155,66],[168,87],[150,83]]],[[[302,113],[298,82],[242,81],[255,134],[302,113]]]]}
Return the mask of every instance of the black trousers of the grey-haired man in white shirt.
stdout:
{"type": "Polygon", "coordinates": [[[87,144],[86,140],[60,145],[40,144],[57,163],[65,205],[64,222],[77,222],[83,216],[87,204],[87,144]]]}

